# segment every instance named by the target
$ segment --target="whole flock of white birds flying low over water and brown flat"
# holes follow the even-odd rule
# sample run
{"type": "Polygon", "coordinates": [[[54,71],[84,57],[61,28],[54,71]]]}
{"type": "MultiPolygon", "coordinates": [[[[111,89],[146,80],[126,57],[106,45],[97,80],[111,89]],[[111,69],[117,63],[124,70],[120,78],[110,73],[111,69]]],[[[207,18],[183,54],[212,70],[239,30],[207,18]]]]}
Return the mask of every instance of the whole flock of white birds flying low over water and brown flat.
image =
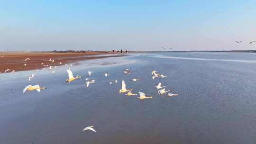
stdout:
{"type": "MultiPolygon", "coordinates": [[[[29,61],[29,60],[30,60],[29,58],[26,58],[26,59],[25,59],[24,66],[27,65],[26,62],[29,61]]],[[[49,61],[50,61],[50,62],[55,62],[55,60],[54,60],[54,59],[51,59],[51,58],[49,59],[49,61]]],[[[60,62],[60,64],[62,64],[62,63],[60,62]]],[[[41,63],[41,65],[46,66],[46,67],[44,67],[42,70],[45,70],[46,68],[48,68],[48,69],[50,69],[50,70],[53,69],[52,73],[55,72],[54,69],[57,67],[57,66],[54,66],[54,67],[53,67],[53,66],[51,66],[51,65],[44,64],[44,63],[41,63]]],[[[65,65],[67,65],[67,63],[66,63],[65,65]]],[[[68,73],[68,79],[66,80],[66,83],[70,83],[70,82],[72,82],[72,81],[74,81],[74,80],[76,80],[76,79],[82,78],[82,77],[79,76],[79,75],[77,75],[76,77],[73,76],[73,72],[71,71],[71,66],[72,66],[72,64],[70,64],[70,67],[66,70],[67,73],[68,73]]],[[[8,72],[8,71],[10,71],[10,69],[7,69],[5,72],[8,72]]],[[[39,71],[39,70],[37,69],[36,72],[38,72],[38,71],[39,71]]],[[[14,72],[14,70],[13,70],[12,72],[14,72]]],[[[132,71],[131,71],[130,69],[125,69],[125,70],[124,70],[124,73],[125,73],[126,75],[130,74],[131,72],[132,72],[132,71]]],[[[93,72],[88,71],[87,73],[88,73],[89,76],[91,76],[93,72]]],[[[152,71],[151,74],[152,74],[152,79],[153,79],[153,80],[155,80],[155,78],[166,78],[165,75],[160,74],[160,73],[157,73],[157,71],[155,71],[155,70],[152,71]]],[[[110,75],[110,73],[104,73],[103,75],[104,75],[105,77],[108,77],[108,76],[110,75]]],[[[34,76],[35,76],[35,73],[31,74],[31,75],[28,77],[28,81],[31,81],[31,79],[33,79],[34,76]]],[[[86,82],[85,82],[86,87],[89,87],[90,84],[95,83],[95,80],[90,80],[89,78],[86,78],[85,81],[86,81],[86,82]]],[[[140,81],[140,79],[134,78],[134,79],[131,79],[130,81],[136,82],[136,81],[140,81]]],[[[110,81],[110,85],[111,85],[112,83],[118,83],[118,80],[110,81]]],[[[157,86],[155,86],[155,88],[158,89],[158,92],[157,92],[158,94],[165,94],[165,93],[167,93],[167,92],[170,92],[170,90],[165,90],[166,88],[165,88],[165,86],[162,86],[162,83],[161,83],[161,82],[160,82],[157,86]]],[[[23,89],[23,93],[25,93],[26,91],[32,91],[32,90],[37,90],[38,92],[40,92],[41,90],[44,90],[44,89],[46,89],[46,88],[45,88],[45,87],[40,87],[39,84],[37,84],[37,85],[27,85],[27,86],[23,89]]],[[[125,94],[126,96],[133,96],[133,95],[134,95],[134,96],[137,96],[136,93],[132,93],[132,89],[127,89],[127,88],[126,88],[126,83],[125,83],[124,80],[122,80],[121,89],[119,90],[119,93],[126,93],[126,94],[125,94]]],[[[153,98],[153,96],[146,96],[146,94],[143,93],[143,92],[141,92],[141,91],[139,91],[138,94],[139,94],[139,97],[137,97],[137,99],[151,99],[151,98],[153,98]]],[[[168,96],[168,97],[174,97],[174,96],[178,96],[178,94],[176,94],[176,93],[175,93],[175,94],[173,94],[173,93],[168,93],[167,96],[168,96]]],[[[93,132],[96,132],[96,130],[93,129],[92,127],[93,127],[93,126],[87,126],[87,127],[85,127],[85,128],[83,129],[83,131],[85,131],[85,130],[91,130],[91,131],[93,131],[93,132]]]]}

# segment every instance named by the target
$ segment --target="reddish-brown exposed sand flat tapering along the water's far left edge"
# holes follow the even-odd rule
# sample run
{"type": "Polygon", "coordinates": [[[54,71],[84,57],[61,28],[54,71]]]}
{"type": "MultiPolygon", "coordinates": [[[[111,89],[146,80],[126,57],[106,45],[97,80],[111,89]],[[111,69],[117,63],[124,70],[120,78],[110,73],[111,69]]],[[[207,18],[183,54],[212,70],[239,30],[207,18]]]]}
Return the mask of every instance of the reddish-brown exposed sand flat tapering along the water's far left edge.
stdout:
{"type": "Polygon", "coordinates": [[[73,63],[82,60],[99,59],[106,57],[117,57],[124,56],[124,54],[116,53],[99,53],[99,52],[89,52],[89,53],[0,53],[0,72],[5,72],[5,70],[10,69],[9,72],[15,71],[27,71],[42,69],[46,66],[58,66],[64,65],[65,63],[73,63]],[[100,54],[109,54],[103,55],[100,54]],[[27,62],[25,59],[29,58],[27,62]],[[54,62],[49,61],[49,59],[54,60],[54,62]],[[61,62],[61,63],[60,63],[61,62]],[[24,66],[26,63],[26,66],[24,66]],[[44,63],[43,65],[41,63],[44,63]]]}

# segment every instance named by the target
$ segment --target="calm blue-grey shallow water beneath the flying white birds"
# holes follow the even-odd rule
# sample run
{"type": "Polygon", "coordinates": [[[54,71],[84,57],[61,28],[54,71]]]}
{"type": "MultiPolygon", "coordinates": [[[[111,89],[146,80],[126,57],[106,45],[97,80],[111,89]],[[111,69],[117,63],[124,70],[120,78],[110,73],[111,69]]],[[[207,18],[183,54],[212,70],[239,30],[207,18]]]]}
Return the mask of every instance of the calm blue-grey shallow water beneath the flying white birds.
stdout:
{"type": "Polygon", "coordinates": [[[0,74],[1,144],[256,143],[255,54],[140,55],[73,64],[74,75],[83,78],[69,84],[68,66],[54,74],[47,69],[0,74]],[[125,68],[132,73],[125,75],[125,68]],[[152,80],[152,70],[167,78],[152,80]],[[96,81],[89,88],[87,77],[96,81]],[[115,79],[119,83],[109,85],[115,79]],[[153,99],[119,94],[121,80],[153,99]],[[158,82],[179,96],[158,95],[158,82]],[[26,85],[38,83],[47,89],[22,93],[26,85]],[[97,133],[82,131],[91,125],[97,133]]]}

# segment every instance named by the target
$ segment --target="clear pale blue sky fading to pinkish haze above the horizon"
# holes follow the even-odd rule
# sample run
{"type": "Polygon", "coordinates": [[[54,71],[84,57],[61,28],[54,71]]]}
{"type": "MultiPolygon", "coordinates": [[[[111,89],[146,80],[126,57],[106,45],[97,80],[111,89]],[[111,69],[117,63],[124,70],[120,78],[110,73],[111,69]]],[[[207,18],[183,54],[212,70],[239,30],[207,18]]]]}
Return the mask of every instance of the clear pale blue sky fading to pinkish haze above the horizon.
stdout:
{"type": "Polygon", "coordinates": [[[249,50],[253,40],[256,0],[0,0],[0,51],[249,50]]]}

